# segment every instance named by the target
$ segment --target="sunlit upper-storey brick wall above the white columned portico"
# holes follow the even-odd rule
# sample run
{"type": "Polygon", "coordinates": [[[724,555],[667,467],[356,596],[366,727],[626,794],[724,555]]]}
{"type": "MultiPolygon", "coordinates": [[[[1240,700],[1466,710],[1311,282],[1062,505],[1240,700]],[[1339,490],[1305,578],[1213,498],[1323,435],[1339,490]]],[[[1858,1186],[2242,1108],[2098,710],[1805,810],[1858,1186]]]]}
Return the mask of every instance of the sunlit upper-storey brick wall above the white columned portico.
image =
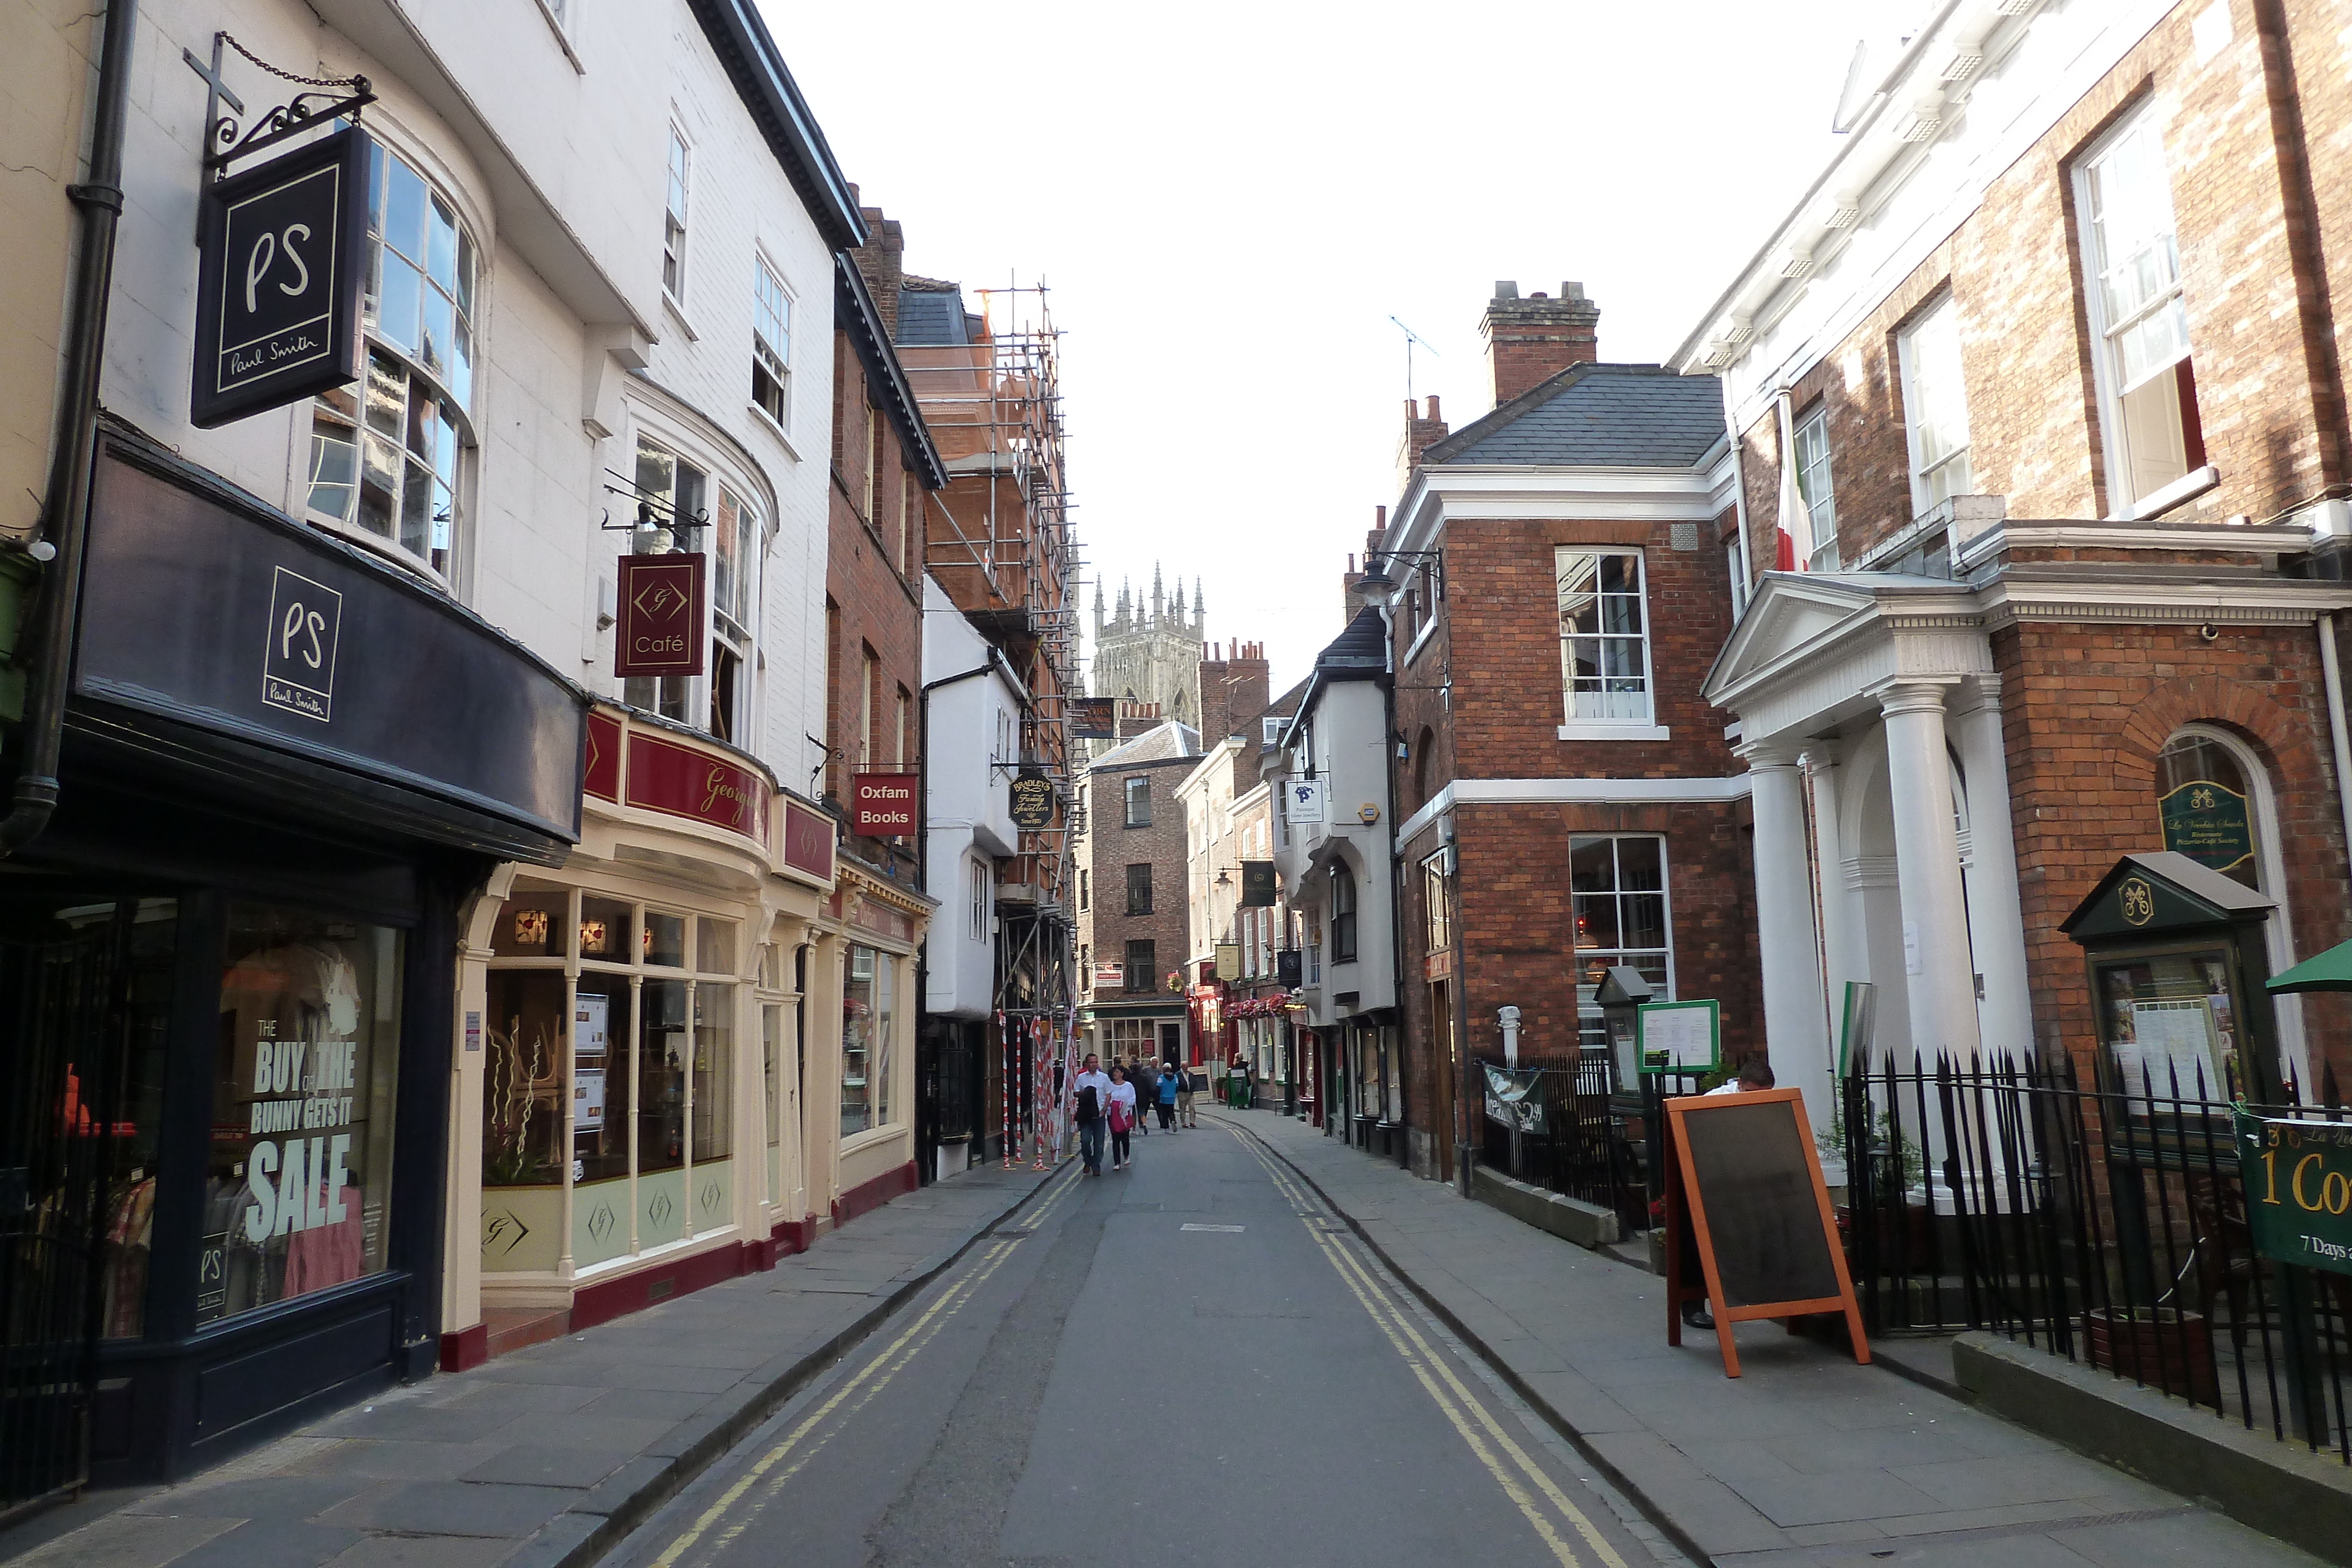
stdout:
{"type": "MultiPolygon", "coordinates": [[[[1828,411],[1839,548],[1853,562],[1912,515],[1898,331],[1950,292],[1959,310],[1973,489],[2011,517],[2105,517],[2110,496],[2082,284],[2074,167],[2122,115],[2161,122],[2190,362],[2220,484],[2171,517],[2267,520],[2347,477],[2343,334],[2352,287],[2352,45],[2319,0],[2232,0],[2232,40],[2197,61],[2178,7],[1985,190],[1983,205],[1804,371],[1828,411]],[[2288,33],[2281,35],[2281,26],[2288,33]],[[2298,127],[2300,120],[2300,127],[2298,127]],[[2310,158],[2298,153],[2310,139],[2310,158]]],[[[1780,440],[1740,430],[1757,569],[1773,562],[1780,440]]]]}

